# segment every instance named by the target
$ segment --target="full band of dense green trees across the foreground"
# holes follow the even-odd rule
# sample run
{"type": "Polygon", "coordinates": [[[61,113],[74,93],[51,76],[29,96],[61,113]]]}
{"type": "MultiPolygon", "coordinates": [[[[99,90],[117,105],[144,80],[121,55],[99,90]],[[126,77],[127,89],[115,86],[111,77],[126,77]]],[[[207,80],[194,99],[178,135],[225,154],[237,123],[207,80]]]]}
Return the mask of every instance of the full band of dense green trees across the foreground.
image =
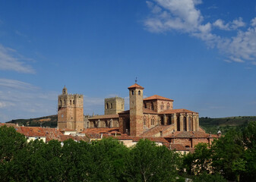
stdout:
{"type": "Polygon", "coordinates": [[[112,138],[27,143],[13,127],[0,127],[0,181],[254,181],[255,170],[255,122],[188,155],[149,140],[131,148],[112,138]]]}

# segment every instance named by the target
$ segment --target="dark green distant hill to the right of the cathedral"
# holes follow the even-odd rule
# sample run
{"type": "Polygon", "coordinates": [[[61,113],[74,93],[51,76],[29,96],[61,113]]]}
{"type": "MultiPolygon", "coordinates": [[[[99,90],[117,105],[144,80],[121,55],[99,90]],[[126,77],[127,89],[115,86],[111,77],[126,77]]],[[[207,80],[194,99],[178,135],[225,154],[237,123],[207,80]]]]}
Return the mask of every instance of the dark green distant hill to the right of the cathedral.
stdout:
{"type": "Polygon", "coordinates": [[[200,126],[207,132],[216,134],[220,130],[223,134],[227,130],[236,127],[242,127],[248,124],[250,121],[256,121],[256,116],[237,116],[227,118],[199,118],[200,126]]]}

